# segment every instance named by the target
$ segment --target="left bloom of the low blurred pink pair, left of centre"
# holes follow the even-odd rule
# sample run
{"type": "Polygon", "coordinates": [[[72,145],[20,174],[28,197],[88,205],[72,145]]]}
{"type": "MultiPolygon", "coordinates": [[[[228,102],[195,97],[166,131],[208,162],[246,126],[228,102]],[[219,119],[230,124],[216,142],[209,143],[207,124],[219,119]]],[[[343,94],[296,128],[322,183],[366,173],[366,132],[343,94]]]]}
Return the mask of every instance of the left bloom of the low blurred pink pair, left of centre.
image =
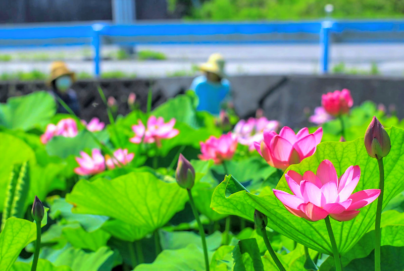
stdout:
{"type": "Polygon", "coordinates": [[[80,167],[75,168],[74,172],[78,175],[93,175],[105,171],[105,159],[99,149],[93,149],[91,156],[84,151],[80,152],[81,157],[76,157],[80,167]]]}

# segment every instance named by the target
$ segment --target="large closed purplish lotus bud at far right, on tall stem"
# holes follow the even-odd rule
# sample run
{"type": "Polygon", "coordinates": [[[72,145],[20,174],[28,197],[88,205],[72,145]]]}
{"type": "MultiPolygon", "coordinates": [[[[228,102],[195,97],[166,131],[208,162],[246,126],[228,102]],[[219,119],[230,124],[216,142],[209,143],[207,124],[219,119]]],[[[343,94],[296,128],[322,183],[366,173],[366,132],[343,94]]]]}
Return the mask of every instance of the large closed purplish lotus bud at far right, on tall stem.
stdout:
{"type": "Polygon", "coordinates": [[[376,117],[373,117],[366,130],[365,147],[369,156],[376,159],[383,158],[390,152],[390,137],[376,117]]]}

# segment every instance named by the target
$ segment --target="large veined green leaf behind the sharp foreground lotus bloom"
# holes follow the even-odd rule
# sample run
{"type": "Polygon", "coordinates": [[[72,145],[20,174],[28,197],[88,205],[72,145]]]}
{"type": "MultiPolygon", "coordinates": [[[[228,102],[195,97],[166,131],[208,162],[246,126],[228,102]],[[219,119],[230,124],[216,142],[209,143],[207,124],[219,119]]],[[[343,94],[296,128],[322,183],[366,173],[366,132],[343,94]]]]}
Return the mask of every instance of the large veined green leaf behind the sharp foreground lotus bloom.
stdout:
{"type": "MultiPolygon", "coordinates": [[[[404,176],[391,175],[400,172],[404,165],[404,130],[392,128],[390,132],[391,151],[384,159],[385,162],[385,190],[383,206],[404,189],[404,176]]],[[[368,156],[363,138],[351,142],[323,142],[318,145],[316,153],[304,159],[298,165],[292,165],[287,170],[294,170],[300,174],[311,170],[315,172],[324,159],[329,159],[341,176],[347,167],[359,165],[361,180],[355,191],[377,188],[379,176],[377,162],[368,156]]],[[[279,181],[277,189],[290,192],[284,177],[279,181]]],[[[354,191],[354,192],[355,192],[354,191]]],[[[317,251],[331,255],[331,244],[323,221],[309,222],[292,215],[283,204],[272,194],[259,196],[246,192],[234,179],[226,178],[218,186],[213,198],[212,207],[220,213],[240,215],[252,220],[254,209],[258,209],[268,216],[268,226],[273,230],[317,251]],[[231,182],[230,182],[231,181],[231,182]]],[[[376,205],[371,204],[361,209],[355,220],[348,222],[332,221],[337,246],[341,254],[352,248],[374,223],[376,205]]]]}

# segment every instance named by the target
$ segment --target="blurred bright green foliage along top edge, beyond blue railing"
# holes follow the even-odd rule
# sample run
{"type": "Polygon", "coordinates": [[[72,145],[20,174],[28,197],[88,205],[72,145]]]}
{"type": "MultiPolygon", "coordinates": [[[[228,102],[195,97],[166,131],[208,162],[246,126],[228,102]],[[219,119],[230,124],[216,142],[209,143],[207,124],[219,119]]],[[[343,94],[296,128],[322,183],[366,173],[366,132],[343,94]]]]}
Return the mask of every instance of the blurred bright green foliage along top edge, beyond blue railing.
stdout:
{"type": "Polygon", "coordinates": [[[327,4],[334,5],[334,18],[401,18],[404,13],[404,5],[394,0],[336,0],[331,3],[327,0],[209,0],[201,8],[195,7],[189,18],[214,21],[317,19],[325,17],[327,4]]]}

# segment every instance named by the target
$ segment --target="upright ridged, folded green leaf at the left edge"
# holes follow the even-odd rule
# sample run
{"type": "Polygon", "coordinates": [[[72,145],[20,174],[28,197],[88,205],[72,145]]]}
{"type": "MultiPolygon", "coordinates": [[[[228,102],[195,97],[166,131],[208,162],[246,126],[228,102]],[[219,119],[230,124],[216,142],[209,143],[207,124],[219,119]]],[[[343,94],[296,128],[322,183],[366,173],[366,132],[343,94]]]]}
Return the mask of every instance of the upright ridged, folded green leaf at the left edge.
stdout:
{"type": "Polygon", "coordinates": [[[6,200],[2,215],[2,230],[8,218],[23,218],[29,183],[28,161],[14,165],[6,192],[6,200]]]}

